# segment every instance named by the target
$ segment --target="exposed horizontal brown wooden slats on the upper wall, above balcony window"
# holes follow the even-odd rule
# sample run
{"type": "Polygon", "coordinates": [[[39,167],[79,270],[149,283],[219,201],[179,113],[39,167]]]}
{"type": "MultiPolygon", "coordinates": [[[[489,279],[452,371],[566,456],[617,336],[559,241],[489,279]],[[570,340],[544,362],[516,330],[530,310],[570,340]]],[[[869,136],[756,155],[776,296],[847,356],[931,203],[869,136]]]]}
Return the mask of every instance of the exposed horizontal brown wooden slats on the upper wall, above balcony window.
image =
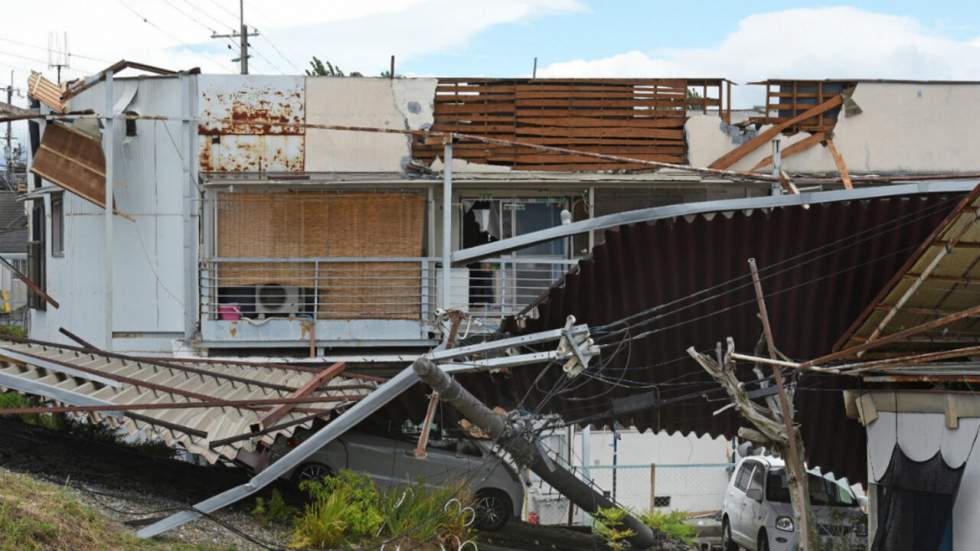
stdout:
{"type": "MultiPolygon", "coordinates": [[[[440,79],[432,129],[590,153],[682,164],[689,110],[727,113],[721,79],[440,79]]],[[[416,137],[413,157],[442,155],[441,142],[416,137]]],[[[649,168],[585,155],[482,142],[454,148],[457,158],[520,170],[649,168]]]]}

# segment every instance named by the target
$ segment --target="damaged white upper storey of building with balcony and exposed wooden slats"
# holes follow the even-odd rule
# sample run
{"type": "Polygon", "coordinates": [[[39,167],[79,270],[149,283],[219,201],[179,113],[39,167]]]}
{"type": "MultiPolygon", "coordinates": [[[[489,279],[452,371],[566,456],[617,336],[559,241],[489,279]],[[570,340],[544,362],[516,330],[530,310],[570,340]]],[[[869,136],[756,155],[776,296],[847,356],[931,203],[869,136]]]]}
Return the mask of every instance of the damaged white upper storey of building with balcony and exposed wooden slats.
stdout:
{"type": "MultiPolygon", "coordinates": [[[[565,211],[582,220],[772,192],[768,182],[653,173],[642,163],[465,137],[454,146],[451,185],[444,187],[441,138],[397,133],[432,129],[705,166],[752,135],[735,126],[741,115],[730,109],[724,79],[329,78],[138,68],[158,74],[114,78],[111,91],[99,74],[43,98],[46,109],[111,109],[116,119],[111,137],[85,117],[32,132],[31,275],[61,304],[32,299],[34,338],[64,341],[64,328],[99,346],[162,354],[424,349],[438,342],[439,309],[469,312],[472,331],[492,329],[602,240],[595,232],[457,265],[446,290],[444,220],[451,225],[447,245],[458,251],[557,226],[565,211]],[[111,143],[111,155],[100,140],[111,143]],[[114,175],[119,213],[108,238],[100,206],[106,172],[114,175]]],[[[794,86],[773,97],[798,95],[795,104],[775,103],[756,122],[790,121],[848,90],[847,105],[821,112],[813,128],[797,126],[834,130],[852,171],[980,169],[973,154],[980,137],[963,111],[977,104],[971,98],[980,85],[794,86]],[[954,96],[961,101],[937,99],[954,96]],[[918,107],[906,108],[907,98],[918,107]],[[963,128],[937,133],[923,120],[963,128]],[[899,156],[878,153],[899,146],[906,147],[899,156]]],[[[839,165],[825,148],[798,150],[784,169],[836,177],[839,165]]],[[[766,145],[732,168],[765,165],[768,153],[766,145]]],[[[820,185],[839,186],[827,179],[820,185]]]]}

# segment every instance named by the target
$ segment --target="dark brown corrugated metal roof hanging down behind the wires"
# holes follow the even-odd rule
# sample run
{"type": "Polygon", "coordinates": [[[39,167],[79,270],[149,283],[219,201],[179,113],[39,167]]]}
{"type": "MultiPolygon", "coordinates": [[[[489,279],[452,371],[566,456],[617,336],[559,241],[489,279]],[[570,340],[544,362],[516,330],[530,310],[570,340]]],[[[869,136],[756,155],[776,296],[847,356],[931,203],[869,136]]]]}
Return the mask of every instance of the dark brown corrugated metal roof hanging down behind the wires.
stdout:
{"type": "MultiPolygon", "coordinates": [[[[547,409],[568,419],[590,414],[611,418],[616,398],[651,391],[661,399],[693,393],[693,398],[617,419],[643,430],[734,436],[741,420],[730,409],[712,415],[728,398],[684,350],[713,349],[728,336],[740,351],[753,350],[761,327],[747,259],[756,258],[762,270],[777,346],[794,358],[816,357],[831,350],[961,197],[842,201],[809,209],[794,206],[658,220],[607,231],[605,243],[538,306],[539,317],[529,320],[528,331],[558,327],[568,315],[599,328],[657,305],[685,302],[661,312],[673,313],[634,327],[634,336],[654,332],[628,341],[631,346],[615,357],[609,357],[615,346],[604,349],[609,363],[599,376],[605,381],[575,381],[547,409]],[[713,286],[718,287],[684,298],[713,286]],[[689,307],[677,311],[685,304],[689,307]]],[[[603,342],[617,343],[618,337],[603,342]]],[[[514,392],[530,392],[533,405],[560,374],[514,370],[514,392]]],[[[750,373],[742,377],[754,378],[750,373]]],[[[845,417],[837,391],[850,384],[859,383],[824,376],[801,379],[795,396],[797,420],[811,465],[863,481],[864,431],[845,417]]]]}

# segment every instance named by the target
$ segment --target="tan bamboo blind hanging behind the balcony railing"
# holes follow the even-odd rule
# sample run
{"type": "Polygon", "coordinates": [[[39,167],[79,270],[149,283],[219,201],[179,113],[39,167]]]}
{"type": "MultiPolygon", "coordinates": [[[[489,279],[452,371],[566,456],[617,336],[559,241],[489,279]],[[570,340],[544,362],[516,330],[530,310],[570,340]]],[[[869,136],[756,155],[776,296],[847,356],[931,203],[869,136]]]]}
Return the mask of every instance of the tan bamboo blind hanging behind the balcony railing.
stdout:
{"type": "Polygon", "coordinates": [[[421,265],[412,262],[272,262],[273,259],[417,258],[425,200],[402,193],[221,193],[217,285],[309,289],[320,319],[418,319],[421,265]]]}

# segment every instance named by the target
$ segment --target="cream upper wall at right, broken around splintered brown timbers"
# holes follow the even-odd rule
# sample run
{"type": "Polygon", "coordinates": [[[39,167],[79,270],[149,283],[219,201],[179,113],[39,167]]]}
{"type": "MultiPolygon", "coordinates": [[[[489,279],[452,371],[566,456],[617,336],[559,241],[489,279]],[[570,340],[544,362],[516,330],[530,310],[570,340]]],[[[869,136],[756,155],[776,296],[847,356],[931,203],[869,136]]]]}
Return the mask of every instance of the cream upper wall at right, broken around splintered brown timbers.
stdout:
{"type": "MultiPolygon", "coordinates": [[[[980,170],[980,85],[859,83],[852,96],[861,113],[834,129],[834,145],[852,173],[942,173],[980,170]]],[[[767,127],[763,127],[763,130],[767,127]]],[[[737,147],[714,115],[694,115],[685,126],[689,161],[707,166],[737,147]]],[[[783,148],[808,137],[783,136],[783,148]]],[[[772,153],[755,150],[732,170],[748,170],[772,153]]],[[[836,172],[825,147],[815,145],[783,161],[790,172],[836,172]]]]}

